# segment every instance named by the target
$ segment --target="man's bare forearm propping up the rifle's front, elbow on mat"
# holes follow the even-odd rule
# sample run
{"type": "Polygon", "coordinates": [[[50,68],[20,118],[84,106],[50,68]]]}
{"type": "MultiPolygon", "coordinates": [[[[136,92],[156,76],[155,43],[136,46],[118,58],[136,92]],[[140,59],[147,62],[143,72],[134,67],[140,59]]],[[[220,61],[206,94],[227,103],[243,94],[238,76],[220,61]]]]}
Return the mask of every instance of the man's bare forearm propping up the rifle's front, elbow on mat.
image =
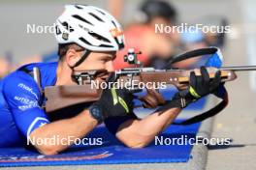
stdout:
{"type": "Polygon", "coordinates": [[[148,115],[142,120],[127,121],[118,128],[116,136],[129,147],[144,147],[170,126],[180,111],[180,108],[171,108],[161,114],[156,112],[148,115]]]}

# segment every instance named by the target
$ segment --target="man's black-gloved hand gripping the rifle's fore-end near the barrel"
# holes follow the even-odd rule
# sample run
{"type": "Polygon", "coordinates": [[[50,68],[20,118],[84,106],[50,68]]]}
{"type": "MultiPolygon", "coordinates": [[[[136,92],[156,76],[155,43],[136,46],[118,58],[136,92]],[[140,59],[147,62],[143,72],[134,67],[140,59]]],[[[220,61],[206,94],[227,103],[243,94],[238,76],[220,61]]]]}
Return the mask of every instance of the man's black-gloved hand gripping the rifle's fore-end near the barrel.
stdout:
{"type": "Polygon", "coordinates": [[[205,67],[202,67],[200,71],[201,75],[196,75],[195,71],[191,71],[188,88],[177,92],[175,97],[158,111],[174,107],[184,108],[193,101],[215,93],[221,85],[221,72],[216,71],[214,78],[210,79],[205,67]]]}

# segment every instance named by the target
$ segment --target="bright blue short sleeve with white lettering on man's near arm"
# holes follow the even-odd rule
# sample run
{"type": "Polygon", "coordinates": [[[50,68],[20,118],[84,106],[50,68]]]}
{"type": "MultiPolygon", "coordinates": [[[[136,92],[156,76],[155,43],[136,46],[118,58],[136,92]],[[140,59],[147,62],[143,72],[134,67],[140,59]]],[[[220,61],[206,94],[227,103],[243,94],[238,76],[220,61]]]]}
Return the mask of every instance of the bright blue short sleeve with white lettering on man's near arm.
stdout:
{"type": "Polygon", "coordinates": [[[28,137],[36,128],[48,124],[48,117],[41,108],[39,87],[25,72],[16,71],[6,77],[3,94],[13,114],[16,127],[28,137]]]}

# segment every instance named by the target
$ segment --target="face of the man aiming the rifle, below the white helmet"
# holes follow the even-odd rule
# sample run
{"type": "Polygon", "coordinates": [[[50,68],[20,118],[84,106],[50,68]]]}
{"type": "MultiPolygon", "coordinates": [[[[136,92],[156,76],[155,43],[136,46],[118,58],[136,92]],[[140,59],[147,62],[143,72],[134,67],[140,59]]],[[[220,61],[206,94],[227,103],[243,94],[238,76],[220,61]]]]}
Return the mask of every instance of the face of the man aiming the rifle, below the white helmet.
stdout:
{"type": "MultiPolygon", "coordinates": [[[[81,55],[82,52],[80,52],[80,56],[81,55]]],[[[91,52],[80,66],[75,68],[75,71],[100,71],[100,73],[97,74],[96,79],[105,81],[109,77],[110,72],[114,71],[112,61],[115,58],[115,55],[115,51],[91,52]]]]}

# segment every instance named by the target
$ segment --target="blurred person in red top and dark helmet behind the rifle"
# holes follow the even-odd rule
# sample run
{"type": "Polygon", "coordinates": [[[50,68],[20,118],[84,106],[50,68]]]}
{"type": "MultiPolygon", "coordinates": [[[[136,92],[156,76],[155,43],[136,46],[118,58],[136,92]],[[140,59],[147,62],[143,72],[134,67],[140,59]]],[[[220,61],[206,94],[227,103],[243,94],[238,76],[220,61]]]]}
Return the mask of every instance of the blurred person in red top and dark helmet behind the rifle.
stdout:
{"type": "Polygon", "coordinates": [[[176,45],[179,43],[176,33],[155,33],[155,24],[176,24],[176,9],[173,5],[162,0],[144,1],[135,14],[135,19],[136,22],[131,23],[124,30],[127,45],[117,53],[114,61],[115,70],[131,67],[123,61],[123,55],[129,48],[143,52],[138,59],[144,63],[144,66],[154,65],[155,59],[168,60],[176,53],[176,45]]]}

